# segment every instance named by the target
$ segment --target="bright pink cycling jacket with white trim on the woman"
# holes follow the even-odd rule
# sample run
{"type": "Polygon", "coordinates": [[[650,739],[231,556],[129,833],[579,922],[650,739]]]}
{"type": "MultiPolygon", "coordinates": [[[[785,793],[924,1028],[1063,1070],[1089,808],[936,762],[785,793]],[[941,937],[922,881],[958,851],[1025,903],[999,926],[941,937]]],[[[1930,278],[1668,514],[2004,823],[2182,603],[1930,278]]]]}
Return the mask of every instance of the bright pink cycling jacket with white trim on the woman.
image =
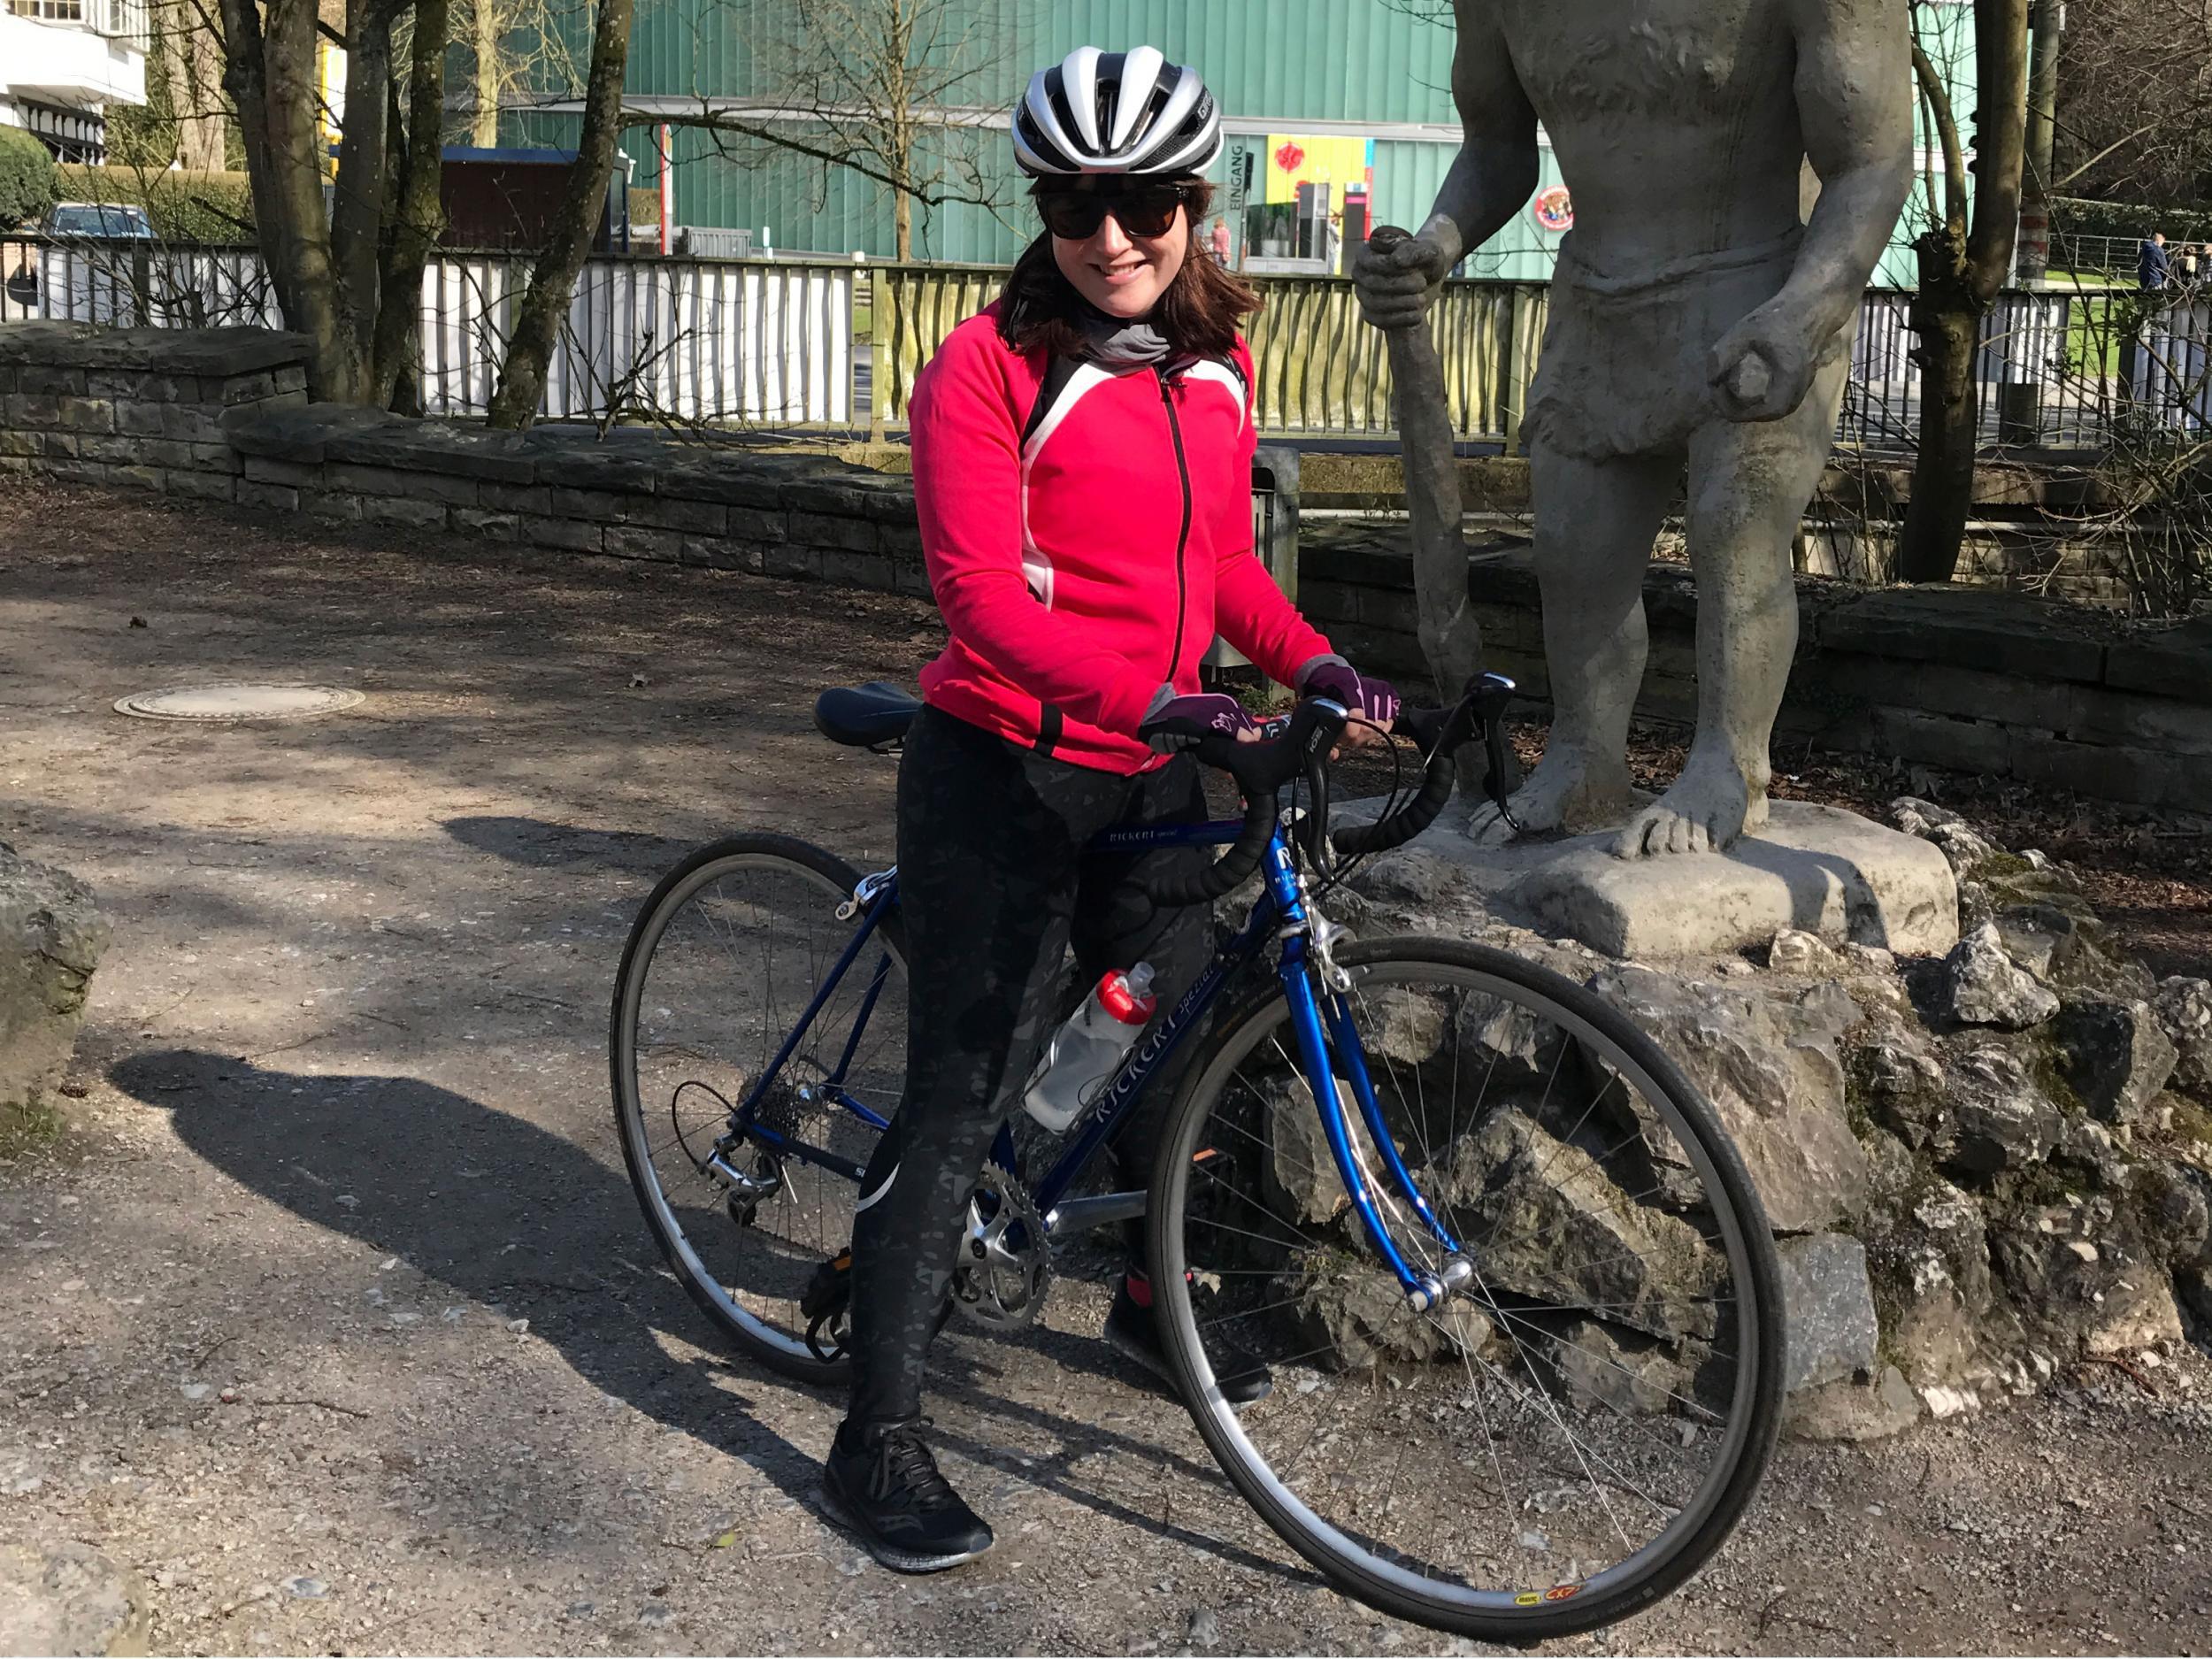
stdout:
{"type": "Polygon", "coordinates": [[[1018,354],[998,307],[914,385],[914,498],[951,630],[947,714],[1077,765],[1141,772],[1164,684],[1219,633],[1272,679],[1329,655],[1252,553],[1252,356],[1166,369],[1018,354]]]}

